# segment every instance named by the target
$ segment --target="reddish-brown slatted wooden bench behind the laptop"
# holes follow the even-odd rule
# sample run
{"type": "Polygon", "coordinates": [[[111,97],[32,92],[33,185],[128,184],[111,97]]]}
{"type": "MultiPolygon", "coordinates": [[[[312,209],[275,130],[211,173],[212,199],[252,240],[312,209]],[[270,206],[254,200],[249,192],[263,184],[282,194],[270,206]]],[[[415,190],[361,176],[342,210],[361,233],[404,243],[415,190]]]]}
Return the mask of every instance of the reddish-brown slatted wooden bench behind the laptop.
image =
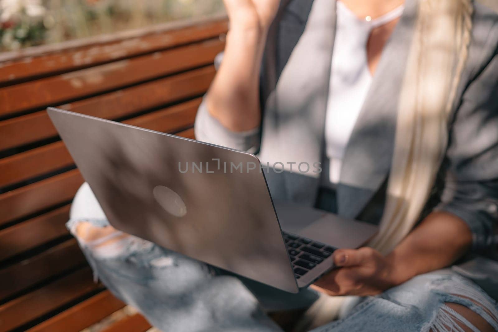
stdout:
{"type": "MultiPolygon", "coordinates": [[[[48,106],[194,137],[226,17],[0,54],[0,331],[81,331],[124,307],[66,230],[83,183],[48,106]]],[[[146,331],[138,314],[106,331],[146,331]]]]}

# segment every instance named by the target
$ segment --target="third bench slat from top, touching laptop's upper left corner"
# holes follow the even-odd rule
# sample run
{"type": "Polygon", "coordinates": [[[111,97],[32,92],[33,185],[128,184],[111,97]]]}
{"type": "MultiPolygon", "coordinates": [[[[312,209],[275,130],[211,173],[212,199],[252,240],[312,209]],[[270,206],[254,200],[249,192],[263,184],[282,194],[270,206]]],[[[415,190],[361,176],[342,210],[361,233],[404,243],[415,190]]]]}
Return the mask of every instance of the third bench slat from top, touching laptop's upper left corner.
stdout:
{"type": "MultiPolygon", "coordinates": [[[[115,119],[204,94],[215,75],[213,66],[196,69],[117,92],[77,101],[60,108],[115,119]]],[[[0,121],[0,150],[57,135],[46,111],[0,121]]]]}

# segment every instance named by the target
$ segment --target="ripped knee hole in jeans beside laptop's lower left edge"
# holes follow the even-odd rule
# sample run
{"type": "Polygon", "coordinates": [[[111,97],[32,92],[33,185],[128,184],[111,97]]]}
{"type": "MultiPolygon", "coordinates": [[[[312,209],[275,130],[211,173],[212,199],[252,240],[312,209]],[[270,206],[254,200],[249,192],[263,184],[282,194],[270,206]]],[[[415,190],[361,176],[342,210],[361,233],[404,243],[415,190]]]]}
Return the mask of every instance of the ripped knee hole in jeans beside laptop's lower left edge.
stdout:
{"type": "Polygon", "coordinates": [[[70,231],[80,246],[98,258],[128,257],[133,253],[149,251],[153,246],[152,242],[126,234],[111,225],[90,221],[71,222],[70,231]]]}

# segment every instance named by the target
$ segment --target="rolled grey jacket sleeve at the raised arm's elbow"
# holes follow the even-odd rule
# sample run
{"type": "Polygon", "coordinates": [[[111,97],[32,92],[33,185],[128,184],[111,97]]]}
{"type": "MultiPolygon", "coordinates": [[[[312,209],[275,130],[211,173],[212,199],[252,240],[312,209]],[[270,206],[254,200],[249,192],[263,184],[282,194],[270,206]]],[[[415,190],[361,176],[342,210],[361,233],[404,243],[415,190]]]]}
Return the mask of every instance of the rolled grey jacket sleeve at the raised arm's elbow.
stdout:
{"type": "MultiPolygon", "coordinates": [[[[216,68],[219,67],[222,59],[223,53],[218,54],[215,59],[216,68]]],[[[194,132],[197,140],[206,143],[226,146],[250,153],[255,153],[259,148],[260,128],[242,132],[229,130],[209,113],[205,99],[197,110],[194,132]]]]}

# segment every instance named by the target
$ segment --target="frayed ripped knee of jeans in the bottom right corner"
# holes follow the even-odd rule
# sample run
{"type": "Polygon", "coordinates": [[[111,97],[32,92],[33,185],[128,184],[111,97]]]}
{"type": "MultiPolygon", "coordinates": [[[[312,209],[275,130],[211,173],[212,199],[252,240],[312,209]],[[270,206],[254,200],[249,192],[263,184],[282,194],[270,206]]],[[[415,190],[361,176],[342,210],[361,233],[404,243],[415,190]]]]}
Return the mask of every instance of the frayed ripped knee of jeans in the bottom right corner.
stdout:
{"type": "Polygon", "coordinates": [[[431,324],[430,332],[480,331],[475,326],[478,323],[498,331],[498,310],[494,301],[484,291],[468,285],[464,280],[455,278],[452,278],[451,282],[449,280],[440,280],[433,287],[434,291],[444,295],[444,303],[439,308],[431,324]],[[453,306],[453,304],[457,306],[453,306]],[[477,320],[471,319],[469,315],[465,315],[467,318],[464,317],[462,313],[454,309],[458,308],[458,306],[463,306],[472,311],[477,320]]]}

